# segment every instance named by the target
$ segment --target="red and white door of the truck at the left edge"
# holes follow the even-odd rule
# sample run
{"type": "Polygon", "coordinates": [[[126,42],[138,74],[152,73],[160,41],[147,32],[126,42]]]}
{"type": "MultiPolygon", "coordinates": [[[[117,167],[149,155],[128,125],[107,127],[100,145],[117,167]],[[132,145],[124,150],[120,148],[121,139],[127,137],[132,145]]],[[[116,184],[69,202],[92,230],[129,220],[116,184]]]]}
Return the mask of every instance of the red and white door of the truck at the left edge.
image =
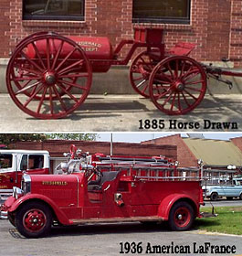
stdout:
{"type": "Polygon", "coordinates": [[[16,158],[11,153],[0,153],[0,189],[16,186],[16,158]]]}

